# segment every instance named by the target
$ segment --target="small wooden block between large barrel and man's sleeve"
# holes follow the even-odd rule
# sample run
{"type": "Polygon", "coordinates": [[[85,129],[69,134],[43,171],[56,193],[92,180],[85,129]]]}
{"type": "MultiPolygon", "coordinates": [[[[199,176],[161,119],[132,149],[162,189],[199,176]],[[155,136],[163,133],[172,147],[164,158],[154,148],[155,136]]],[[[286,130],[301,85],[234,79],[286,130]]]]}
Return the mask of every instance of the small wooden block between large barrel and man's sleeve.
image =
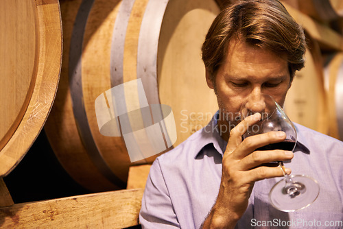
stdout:
{"type": "Polygon", "coordinates": [[[145,189],[151,165],[137,165],[129,169],[127,189],[145,189]]]}

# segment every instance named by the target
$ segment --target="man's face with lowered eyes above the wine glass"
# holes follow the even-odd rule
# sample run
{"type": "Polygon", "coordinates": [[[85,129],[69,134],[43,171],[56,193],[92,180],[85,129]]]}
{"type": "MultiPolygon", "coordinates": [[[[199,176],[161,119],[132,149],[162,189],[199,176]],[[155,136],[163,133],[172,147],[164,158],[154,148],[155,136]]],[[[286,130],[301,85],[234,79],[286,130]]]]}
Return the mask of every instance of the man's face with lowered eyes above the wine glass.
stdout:
{"type": "Polygon", "coordinates": [[[239,123],[235,117],[246,99],[254,103],[261,100],[261,94],[267,94],[283,106],[290,86],[288,64],[283,56],[236,40],[231,41],[214,82],[208,73],[206,80],[215,90],[221,117],[230,121],[226,123],[230,127],[239,123]]]}

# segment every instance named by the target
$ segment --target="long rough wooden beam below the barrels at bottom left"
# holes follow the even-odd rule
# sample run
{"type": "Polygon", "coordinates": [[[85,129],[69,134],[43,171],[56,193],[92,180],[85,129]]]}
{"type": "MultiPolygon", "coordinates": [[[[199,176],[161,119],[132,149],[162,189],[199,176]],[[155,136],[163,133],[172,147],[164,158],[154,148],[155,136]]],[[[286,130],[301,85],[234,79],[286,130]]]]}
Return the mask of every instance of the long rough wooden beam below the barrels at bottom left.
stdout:
{"type": "Polygon", "coordinates": [[[0,208],[0,228],[127,228],[139,225],[143,189],[110,191],[0,208]]]}

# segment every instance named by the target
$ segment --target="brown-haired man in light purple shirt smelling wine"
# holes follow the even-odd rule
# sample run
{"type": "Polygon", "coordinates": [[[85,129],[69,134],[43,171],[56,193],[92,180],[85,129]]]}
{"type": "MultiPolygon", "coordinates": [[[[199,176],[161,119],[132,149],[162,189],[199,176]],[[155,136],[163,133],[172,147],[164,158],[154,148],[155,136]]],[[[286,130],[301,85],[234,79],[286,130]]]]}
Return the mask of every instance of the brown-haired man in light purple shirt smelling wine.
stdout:
{"type": "Polygon", "coordinates": [[[343,143],[296,124],[294,154],[258,151],[283,141],[285,133],[242,141],[261,115],[237,119],[242,102],[258,102],[262,94],[282,106],[304,53],[303,31],[279,1],[239,1],[217,16],[202,58],[220,110],[209,125],[155,160],[142,200],[143,228],[343,227],[343,143]],[[288,174],[292,169],[318,180],[314,204],[294,213],[270,204],[268,193],[283,176],[280,167],[265,165],[274,161],[285,161],[288,174]]]}

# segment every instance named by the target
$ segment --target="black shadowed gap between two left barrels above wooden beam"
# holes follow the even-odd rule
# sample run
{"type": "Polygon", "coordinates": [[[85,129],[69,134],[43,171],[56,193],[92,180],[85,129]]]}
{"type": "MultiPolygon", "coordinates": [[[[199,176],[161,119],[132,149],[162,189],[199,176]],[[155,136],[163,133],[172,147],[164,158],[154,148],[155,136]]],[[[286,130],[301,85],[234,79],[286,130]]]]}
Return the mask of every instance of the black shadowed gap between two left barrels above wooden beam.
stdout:
{"type": "Polygon", "coordinates": [[[3,180],[14,203],[91,193],[75,182],[60,165],[44,129],[19,165],[3,180]]]}

